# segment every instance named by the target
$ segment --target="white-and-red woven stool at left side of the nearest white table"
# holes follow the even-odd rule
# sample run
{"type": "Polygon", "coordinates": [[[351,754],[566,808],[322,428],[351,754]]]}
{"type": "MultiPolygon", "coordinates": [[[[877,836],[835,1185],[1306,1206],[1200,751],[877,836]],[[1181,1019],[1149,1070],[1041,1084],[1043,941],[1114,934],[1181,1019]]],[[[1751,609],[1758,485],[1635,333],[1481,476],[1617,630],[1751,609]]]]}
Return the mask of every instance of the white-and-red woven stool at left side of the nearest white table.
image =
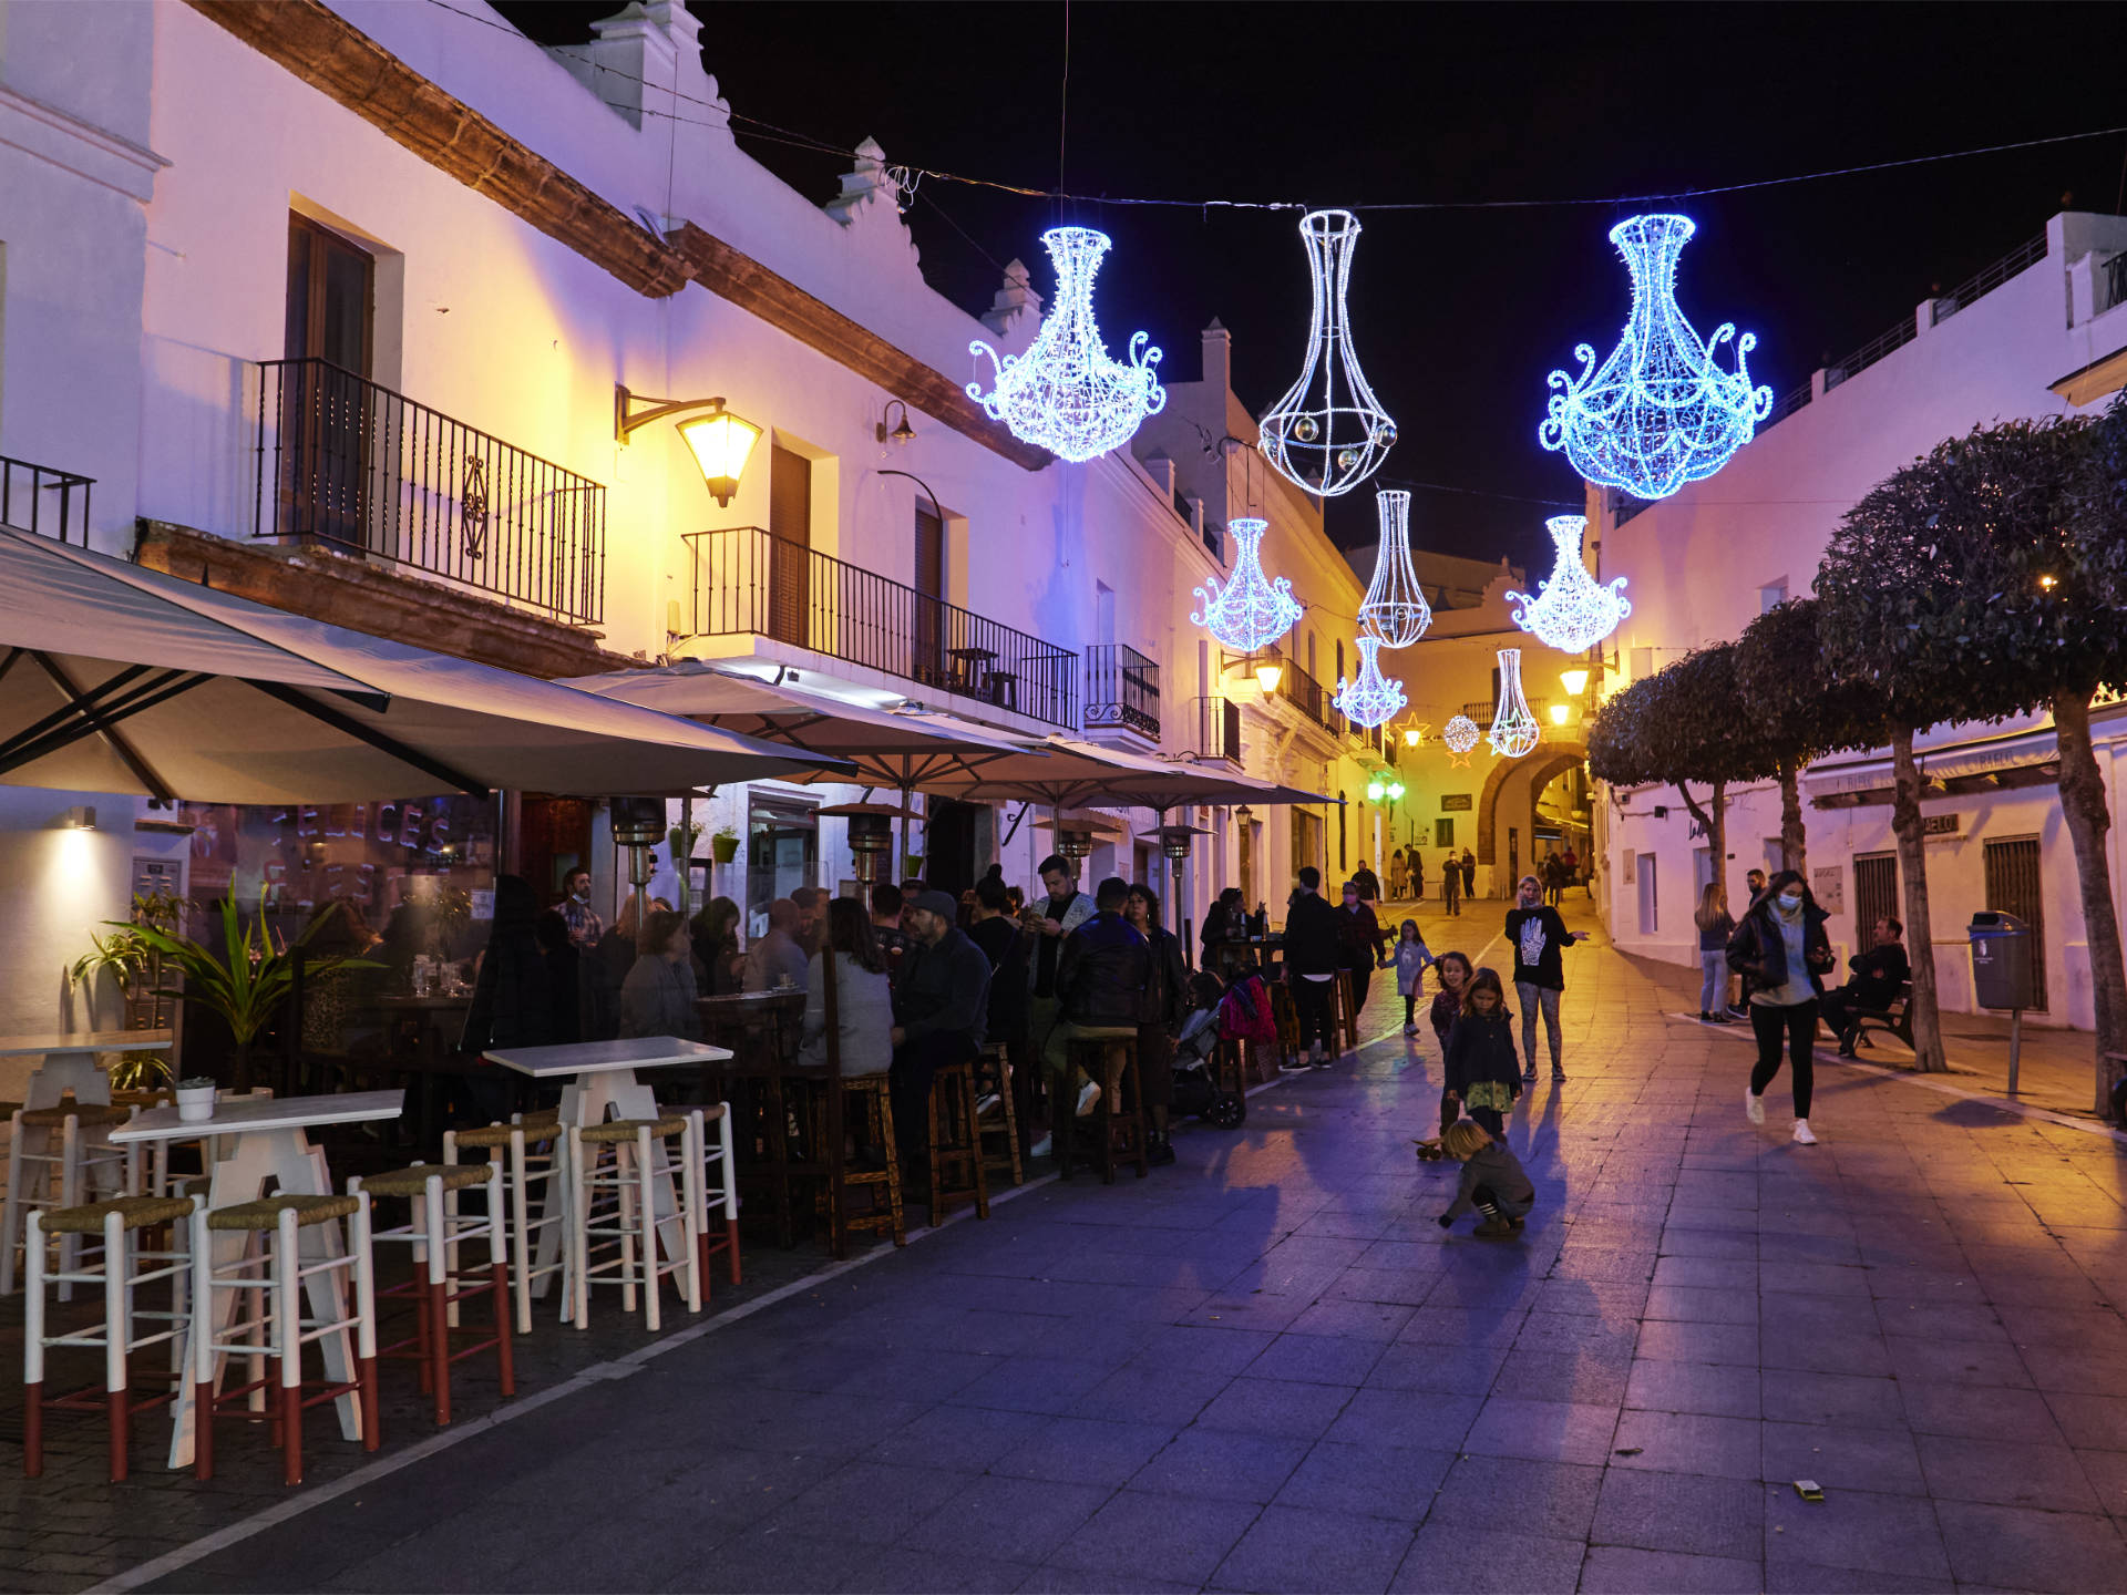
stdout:
{"type": "Polygon", "coordinates": [[[111,1423],[111,1482],[125,1478],[125,1450],[132,1429],[132,1414],[166,1404],[185,1376],[185,1333],[191,1327],[191,1210],[196,1197],[117,1197],[115,1202],[94,1202],[79,1208],[32,1210],[28,1223],[28,1299],[23,1302],[21,1327],[21,1470],[30,1478],[45,1472],[45,1408],[94,1410],[104,1408],[111,1423]],[[147,1231],[168,1227],[166,1246],[149,1246],[147,1231]],[[72,1274],[47,1274],[47,1236],[98,1236],[100,1242],[83,1250],[100,1267],[77,1263],[72,1274]],[[72,1280],[74,1285],[96,1285],[104,1297],[102,1327],[83,1327],[74,1333],[49,1333],[45,1327],[45,1285],[72,1280]],[[134,1291],[155,1280],[170,1280],[168,1310],[134,1306],[134,1291]],[[136,1333],[136,1325],[164,1325],[153,1333],[136,1333]],[[147,1346],[170,1346],[168,1389],[145,1401],[132,1399],[132,1370],[128,1359],[147,1346]],[[70,1395],[45,1401],[45,1350],[51,1346],[83,1346],[104,1353],[102,1395],[89,1384],[70,1395]]]}

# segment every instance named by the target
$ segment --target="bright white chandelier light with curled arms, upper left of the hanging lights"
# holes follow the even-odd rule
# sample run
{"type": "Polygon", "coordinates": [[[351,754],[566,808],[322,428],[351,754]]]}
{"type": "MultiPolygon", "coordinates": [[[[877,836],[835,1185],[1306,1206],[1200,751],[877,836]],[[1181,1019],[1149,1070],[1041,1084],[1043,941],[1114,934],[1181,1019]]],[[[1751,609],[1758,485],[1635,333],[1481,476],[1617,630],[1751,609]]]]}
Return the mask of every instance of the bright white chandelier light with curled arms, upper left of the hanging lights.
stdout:
{"type": "Polygon", "coordinates": [[[981,338],[970,342],[968,353],[989,355],[998,381],[989,393],[968,383],[968,398],[1021,442],[1076,464],[1129,442],[1144,417],[1166,408],[1168,391],[1153,370],[1159,351],[1144,347],[1146,334],[1132,336],[1127,362],[1108,359],[1100,340],[1093,274],[1108,253],[1108,234],[1051,228],[1042,247],[1057,270],[1049,319],[1023,355],[998,355],[981,338]]]}

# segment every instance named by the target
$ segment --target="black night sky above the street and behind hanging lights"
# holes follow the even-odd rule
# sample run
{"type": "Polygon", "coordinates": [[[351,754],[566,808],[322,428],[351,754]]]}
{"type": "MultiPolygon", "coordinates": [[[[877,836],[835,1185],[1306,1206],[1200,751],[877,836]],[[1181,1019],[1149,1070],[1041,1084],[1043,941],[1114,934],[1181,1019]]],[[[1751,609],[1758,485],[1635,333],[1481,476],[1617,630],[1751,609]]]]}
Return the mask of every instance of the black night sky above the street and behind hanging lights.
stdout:
{"type": "MultiPolygon", "coordinates": [[[[542,43],[610,4],[502,4],[542,43]]],[[[889,162],[1055,189],[1064,4],[696,4],[732,111],[889,162]]],[[[1578,506],[1536,444],[1544,376],[1617,342],[1627,279],[1604,234],[1638,211],[1699,223],[1678,300],[1704,336],[1759,336],[1753,376],[1806,383],[2059,208],[2118,211],[2127,134],[1742,194],[1642,204],[1374,211],[1663,194],[2127,123],[2127,6],[1072,4],[1064,187],[1187,208],[1059,204],[923,179],[910,225],[932,285],[981,310],[998,262],[1051,287],[1038,234],[1115,236],[1095,308],[1163,374],[1234,330],[1251,410],[1297,374],[1308,315],[1297,215],[1359,208],[1353,336],[1400,427],[1383,485],[1419,487],[1423,547],[1548,564],[1546,500],[1578,506]],[[2070,198],[2072,196],[2072,198],[2070,198]],[[1461,489],[1461,491],[1442,491],[1461,489]]],[[[849,160],[740,123],[740,147],[827,200],[849,160]]],[[[1731,353],[1727,355],[1734,357],[1731,353]]],[[[951,372],[959,376],[961,372],[951,372]]],[[[1374,534],[1363,487],[1329,506],[1374,534]]]]}

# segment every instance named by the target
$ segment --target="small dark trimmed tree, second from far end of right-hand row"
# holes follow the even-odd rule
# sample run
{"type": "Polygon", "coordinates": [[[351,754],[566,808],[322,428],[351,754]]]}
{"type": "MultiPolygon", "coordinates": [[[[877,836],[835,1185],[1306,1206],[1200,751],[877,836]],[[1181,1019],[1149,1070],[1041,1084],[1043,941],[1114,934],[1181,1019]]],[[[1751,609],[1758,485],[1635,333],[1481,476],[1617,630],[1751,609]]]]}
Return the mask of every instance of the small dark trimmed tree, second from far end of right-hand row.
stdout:
{"type": "Polygon", "coordinates": [[[1872,749],[1882,715],[1870,695],[1825,666],[1814,598],[1791,598],[1759,615],[1736,638],[1736,687],[1780,780],[1780,866],[1808,878],[1802,825],[1802,770],[1827,753],[1872,749]]]}

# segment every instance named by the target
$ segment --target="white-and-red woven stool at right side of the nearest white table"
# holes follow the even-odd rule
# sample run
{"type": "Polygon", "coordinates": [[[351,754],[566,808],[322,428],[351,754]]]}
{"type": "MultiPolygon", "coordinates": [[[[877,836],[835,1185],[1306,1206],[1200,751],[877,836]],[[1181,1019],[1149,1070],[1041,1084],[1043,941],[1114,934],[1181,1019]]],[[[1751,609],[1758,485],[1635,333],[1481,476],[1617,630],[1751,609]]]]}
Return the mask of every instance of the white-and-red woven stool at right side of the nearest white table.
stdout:
{"type": "Polygon", "coordinates": [[[510,1357],[510,1265],[508,1265],[508,1219],[502,1193],[502,1163],[415,1163],[413,1168],[387,1174],[353,1176],[347,1195],[406,1202],[408,1219],[389,1229],[370,1227],[370,1242],[396,1240],[413,1248],[413,1278],[379,1291],[379,1297],[413,1302],[415,1329],[406,1340],[393,1340],[376,1350],[379,1357],[413,1361],[421,1367],[421,1393],[436,1404],[436,1425],[451,1421],[451,1363],[476,1357],[483,1350],[496,1353],[496,1370],[502,1376],[502,1393],[517,1395],[517,1370],[510,1357]],[[459,1193],[485,1189],[487,1210],[468,1216],[459,1210],[459,1193]],[[457,1253],[468,1240],[487,1242],[487,1265],[468,1276],[459,1270],[457,1253]],[[481,1278],[485,1276],[485,1278],[481,1278]],[[493,1297],[493,1327],[489,1331],[459,1329],[457,1310],[476,1295],[493,1297]],[[451,1336],[481,1336],[459,1350],[451,1350],[451,1336]]]}

